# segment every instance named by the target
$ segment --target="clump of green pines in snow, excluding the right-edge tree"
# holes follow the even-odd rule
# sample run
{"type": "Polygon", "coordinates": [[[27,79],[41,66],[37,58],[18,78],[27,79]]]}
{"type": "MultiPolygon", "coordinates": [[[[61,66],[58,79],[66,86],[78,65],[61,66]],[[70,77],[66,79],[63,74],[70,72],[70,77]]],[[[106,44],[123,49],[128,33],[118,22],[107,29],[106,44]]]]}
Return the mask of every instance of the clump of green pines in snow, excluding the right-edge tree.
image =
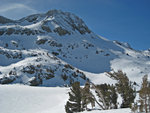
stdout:
{"type": "Polygon", "coordinates": [[[118,82],[115,85],[100,84],[95,85],[87,82],[85,86],[80,87],[79,82],[72,84],[69,92],[69,100],[65,105],[67,113],[82,112],[84,110],[91,110],[87,107],[91,104],[91,107],[95,107],[95,103],[99,106],[99,109],[117,109],[128,108],[134,102],[135,90],[133,83],[131,83],[122,71],[108,73],[108,75],[118,82]],[[121,106],[117,103],[118,94],[122,96],[121,106]]]}

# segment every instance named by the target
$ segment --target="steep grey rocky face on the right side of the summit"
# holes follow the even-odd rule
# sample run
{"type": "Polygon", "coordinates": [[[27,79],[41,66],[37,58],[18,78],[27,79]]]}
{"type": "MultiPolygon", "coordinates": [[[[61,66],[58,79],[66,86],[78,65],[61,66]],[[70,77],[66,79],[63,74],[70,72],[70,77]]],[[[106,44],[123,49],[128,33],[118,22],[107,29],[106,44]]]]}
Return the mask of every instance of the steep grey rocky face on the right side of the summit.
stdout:
{"type": "Polygon", "coordinates": [[[47,20],[52,21],[53,18],[53,23],[60,26],[59,29],[64,29],[65,32],[68,32],[68,34],[75,31],[78,31],[80,34],[91,33],[84,21],[70,12],[63,12],[61,10],[54,9],[48,11],[46,16],[48,16],[47,20]]]}

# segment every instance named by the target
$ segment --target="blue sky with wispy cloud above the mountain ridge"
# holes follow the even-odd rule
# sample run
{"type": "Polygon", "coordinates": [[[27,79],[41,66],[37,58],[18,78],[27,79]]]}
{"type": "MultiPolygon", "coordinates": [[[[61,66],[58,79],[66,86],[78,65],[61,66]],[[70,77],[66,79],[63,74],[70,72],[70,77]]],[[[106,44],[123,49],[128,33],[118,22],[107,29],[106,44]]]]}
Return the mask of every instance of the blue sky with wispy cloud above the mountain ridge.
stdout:
{"type": "Polygon", "coordinates": [[[107,39],[138,50],[150,48],[150,0],[0,0],[0,15],[11,19],[50,9],[78,15],[107,39]]]}

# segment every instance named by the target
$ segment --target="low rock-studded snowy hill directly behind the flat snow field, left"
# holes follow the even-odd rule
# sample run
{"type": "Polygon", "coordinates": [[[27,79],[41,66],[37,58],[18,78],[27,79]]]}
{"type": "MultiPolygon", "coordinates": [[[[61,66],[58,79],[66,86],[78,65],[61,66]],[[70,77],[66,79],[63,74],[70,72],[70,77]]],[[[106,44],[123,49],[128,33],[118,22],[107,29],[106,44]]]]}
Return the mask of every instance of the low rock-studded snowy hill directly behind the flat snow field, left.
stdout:
{"type": "Polygon", "coordinates": [[[82,72],[44,50],[20,52],[19,50],[3,49],[3,52],[10,53],[12,56],[19,55],[21,59],[11,60],[10,64],[7,64],[8,60],[1,62],[4,65],[0,67],[1,84],[21,83],[55,87],[70,85],[73,81],[80,81],[83,84],[87,80],[82,72]]]}

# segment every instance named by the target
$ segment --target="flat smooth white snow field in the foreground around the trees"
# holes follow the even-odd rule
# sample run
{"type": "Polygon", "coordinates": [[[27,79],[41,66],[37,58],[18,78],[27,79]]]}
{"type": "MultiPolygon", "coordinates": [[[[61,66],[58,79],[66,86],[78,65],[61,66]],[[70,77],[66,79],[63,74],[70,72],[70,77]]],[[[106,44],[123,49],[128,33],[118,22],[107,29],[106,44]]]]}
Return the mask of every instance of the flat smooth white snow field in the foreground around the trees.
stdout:
{"type": "MultiPolygon", "coordinates": [[[[0,85],[0,113],[65,113],[69,88],[0,85]]],[[[130,109],[84,113],[130,113],[130,109]]]]}

